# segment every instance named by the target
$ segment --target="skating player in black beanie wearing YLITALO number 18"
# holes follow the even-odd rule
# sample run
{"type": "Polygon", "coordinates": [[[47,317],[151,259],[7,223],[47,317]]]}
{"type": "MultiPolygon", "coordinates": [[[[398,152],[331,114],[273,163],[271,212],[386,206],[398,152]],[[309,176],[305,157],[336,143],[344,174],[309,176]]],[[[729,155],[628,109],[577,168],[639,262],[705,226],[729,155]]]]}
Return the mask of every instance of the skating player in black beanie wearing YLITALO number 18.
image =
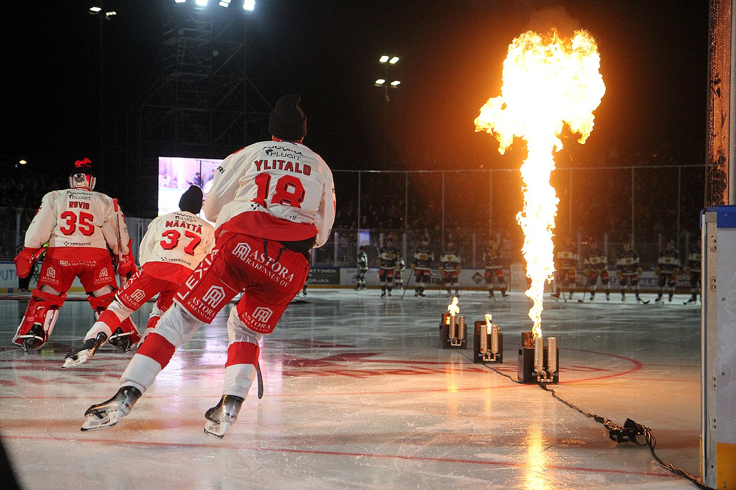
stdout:
{"type": "Polygon", "coordinates": [[[299,100],[277,101],[272,141],[247,146],[218,168],[204,206],[208,220],[216,220],[215,248],[138,347],[116,395],[85,412],[82,430],[110,427],[129,414],[174,350],[244,289],[227,320],[224,388],[205,413],[205,433],[222,438],[236,421],[255,378],[258,341],[302,289],[311,249],[324,245],[335,217],[330,168],[301,143],[306,118],[299,100]]]}

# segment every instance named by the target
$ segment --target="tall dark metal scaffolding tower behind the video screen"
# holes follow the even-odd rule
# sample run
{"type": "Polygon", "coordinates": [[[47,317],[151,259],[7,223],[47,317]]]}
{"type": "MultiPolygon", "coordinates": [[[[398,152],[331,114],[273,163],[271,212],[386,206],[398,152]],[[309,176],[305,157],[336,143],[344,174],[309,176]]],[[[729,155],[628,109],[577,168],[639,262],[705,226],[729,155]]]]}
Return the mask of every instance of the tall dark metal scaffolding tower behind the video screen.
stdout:
{"type": "Polygon", "coordinates": [[[272,107],[247,78],[246,30],[234,9],[164,10],[160,79],[105,127],[104,180],[128,214],[156,215],[159,156],[224,158],[268,137],[272,107]]]}

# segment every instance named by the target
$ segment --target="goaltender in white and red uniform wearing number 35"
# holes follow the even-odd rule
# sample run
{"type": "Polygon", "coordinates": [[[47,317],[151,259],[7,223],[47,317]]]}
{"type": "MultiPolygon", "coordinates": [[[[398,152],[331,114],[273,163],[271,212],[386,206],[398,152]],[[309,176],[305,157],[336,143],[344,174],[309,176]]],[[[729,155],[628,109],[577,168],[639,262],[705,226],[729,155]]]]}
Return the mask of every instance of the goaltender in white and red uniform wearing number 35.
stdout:
{"type": "MultiPolygon", "coordinates": [[[[18,277],[26,277],[35,253],[46,242],[46,259],[38,275],[38,285],[13,338],[26,353],[49,339],[66,292],[79,278],[96,314],[112,302],[117,289],[113,262],[107,247],[118,256],[130,251],[128,231],[113,199],[93,192],[96,178],[89,159],[75,162],[69,177],[70,189],[54,190],[43,196],[41,206],[26,231],[24,248],[15,257],[18,277]],[[120,248],[121,250],[118,250],[120,248]]],[[[118,273],[130,264],[118,264],[118,273]]],[[[135,325],[127,320],[110,336],[110,344],[130,350],[138,342],[135,325]]]]}

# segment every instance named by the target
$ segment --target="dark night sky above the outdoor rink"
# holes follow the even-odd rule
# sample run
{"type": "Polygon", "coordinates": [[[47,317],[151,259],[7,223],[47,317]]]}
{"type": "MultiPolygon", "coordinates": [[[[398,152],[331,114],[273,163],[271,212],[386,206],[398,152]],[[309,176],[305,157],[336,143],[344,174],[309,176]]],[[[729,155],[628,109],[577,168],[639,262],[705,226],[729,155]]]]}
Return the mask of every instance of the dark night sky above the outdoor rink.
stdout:
{"type": "MultiPolygon", "coordinates": [[[[160,74],[164,1],[173,2],[102,2],[118,11],[104,25],[108,113],[160,74]]],[[[88,1],[46,4],[33,15],[15,12],[3,29],[10,82],[1,102],[9,126],[0,148],[4,167],[25,158],[36,169],[66,168],[81,154],[96,156],[98,19],[88,15],[88,1]]],[[[509,42],[543,26],[545,9],[566,12],[568,24],[589,30],[601,52],[606,96],[592,137],[570,150],[573,159],[661,140],[693,141],[703,153],[704,1],[260,0],[248,19],[249,76],[272,103],[284,93],[302,95],[305,143],[333,168],[375,168],[383,155],[383,93],[372,81],[383,72],[378,56],[397,54],[392,69],[402,84],[389,104],[390,144],[418,153],[432,147],[450,159],[404,165],[508,167],[495,139],[474,133],[473,120],[487,98],[500,94],[509,42]]]]}

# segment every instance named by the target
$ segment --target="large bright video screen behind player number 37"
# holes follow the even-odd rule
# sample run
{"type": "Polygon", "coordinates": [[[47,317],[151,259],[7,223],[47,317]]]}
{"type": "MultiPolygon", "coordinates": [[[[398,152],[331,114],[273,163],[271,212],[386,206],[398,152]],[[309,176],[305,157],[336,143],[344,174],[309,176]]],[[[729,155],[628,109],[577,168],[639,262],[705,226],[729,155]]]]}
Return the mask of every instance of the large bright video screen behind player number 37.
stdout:
{"type": "MultiPolygon", "coordinates": [[[[201,158],[158,157],[158,215],[179,211],[179,199],[190,185],[207,192],[222,160],[201,158]]],[[[201,215],[202,213],[200,213],[201,215]]]]}

